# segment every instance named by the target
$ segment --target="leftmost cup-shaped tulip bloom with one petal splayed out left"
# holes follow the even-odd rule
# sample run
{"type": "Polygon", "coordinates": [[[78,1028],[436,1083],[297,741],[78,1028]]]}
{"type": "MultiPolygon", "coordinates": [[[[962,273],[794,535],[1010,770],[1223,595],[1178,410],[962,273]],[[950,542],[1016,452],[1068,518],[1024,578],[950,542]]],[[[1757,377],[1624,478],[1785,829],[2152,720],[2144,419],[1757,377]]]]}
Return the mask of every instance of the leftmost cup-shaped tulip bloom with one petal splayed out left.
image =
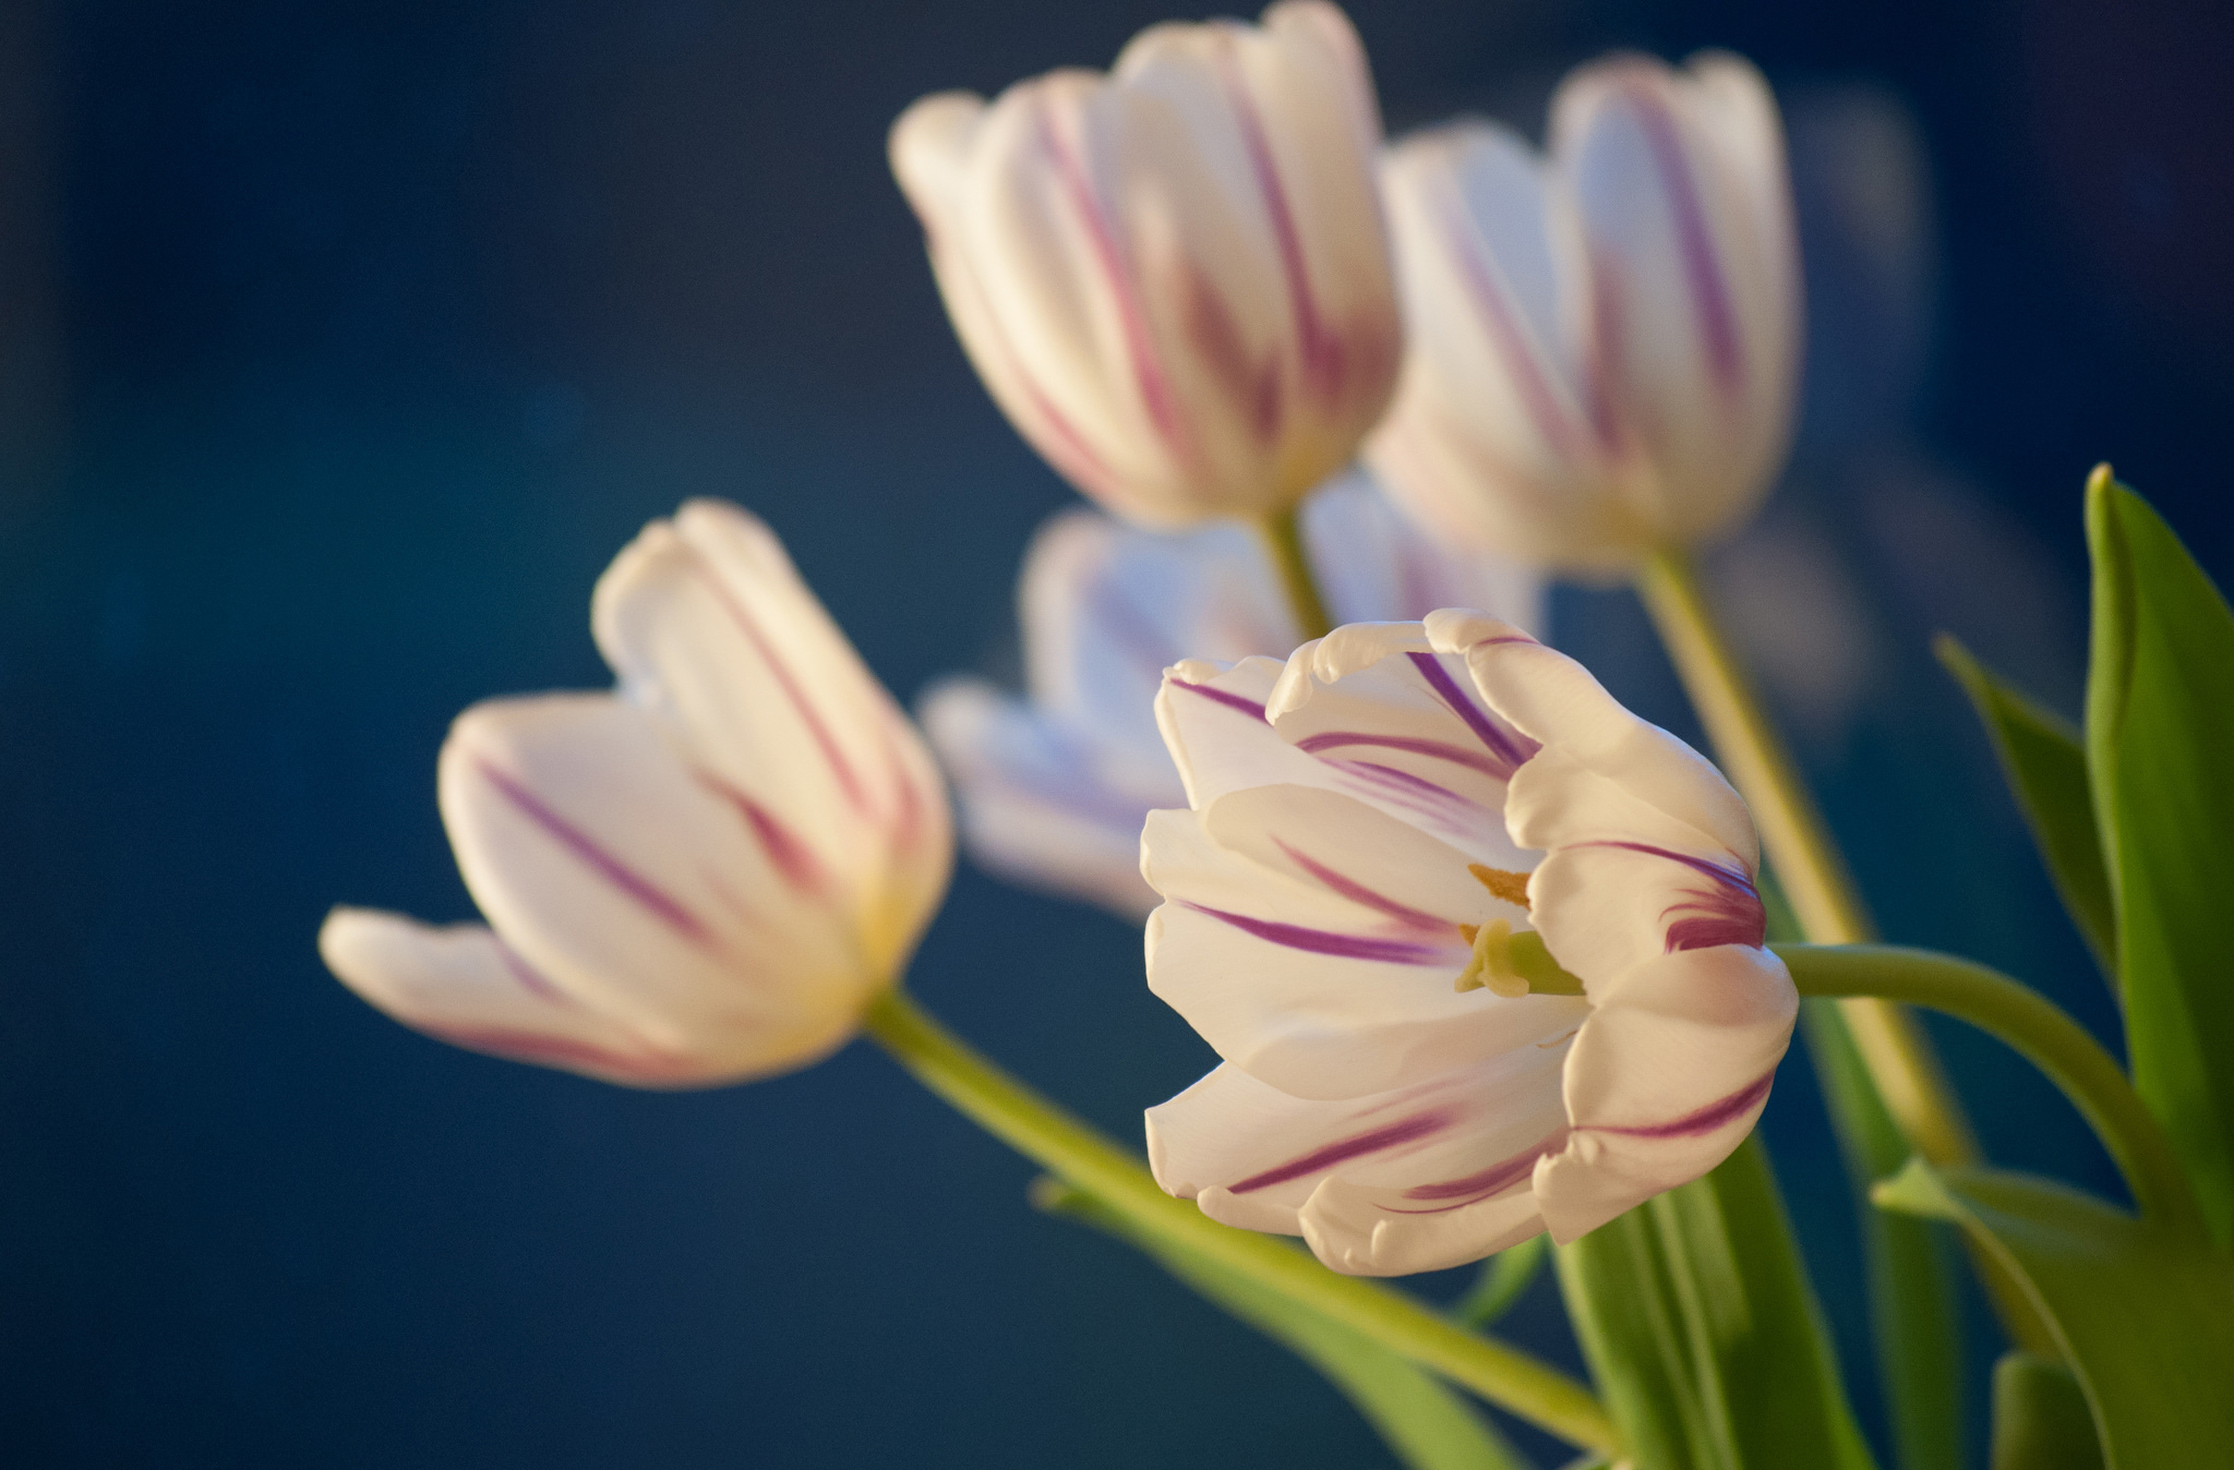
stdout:
{"type": "Polygon", "coordinates": [[[442,822],[487,925],[335,909],[398,1021],[643,1088],[818,1061],[891,985],[954,840],[920,737],[753,516],[693,500],[592,599],[614,693],[469,708],[442,822]]]}

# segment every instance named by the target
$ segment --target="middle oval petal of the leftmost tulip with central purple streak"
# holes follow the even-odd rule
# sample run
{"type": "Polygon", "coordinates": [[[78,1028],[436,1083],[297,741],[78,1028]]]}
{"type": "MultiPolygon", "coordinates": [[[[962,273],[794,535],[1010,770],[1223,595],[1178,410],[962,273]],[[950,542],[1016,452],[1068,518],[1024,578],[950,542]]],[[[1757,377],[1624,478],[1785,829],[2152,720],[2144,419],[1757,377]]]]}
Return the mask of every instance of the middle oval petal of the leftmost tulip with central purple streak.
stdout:
{"type": "Polygon", "coordinates": [[[840,1046],[887,972],[800,833],[610,695],[458,717],[438,795],[474,900],[567,994],[733,1075],[840,1046]],[[762,974],[780,983],[755,983],[762,974]]]}

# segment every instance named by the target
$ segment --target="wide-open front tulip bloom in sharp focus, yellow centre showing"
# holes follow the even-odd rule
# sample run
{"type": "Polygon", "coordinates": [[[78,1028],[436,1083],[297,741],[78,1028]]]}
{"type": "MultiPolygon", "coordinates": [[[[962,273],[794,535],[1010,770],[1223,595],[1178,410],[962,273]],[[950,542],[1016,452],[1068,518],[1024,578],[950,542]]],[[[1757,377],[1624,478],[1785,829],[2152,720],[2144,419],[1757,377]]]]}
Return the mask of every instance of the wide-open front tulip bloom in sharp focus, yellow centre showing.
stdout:
{"type": "Polygon", "coordinates": [[[1224,1059],[1148,1110],[1166,1191],[1394,1276],[1575,1240],[1751,1130],[1798,1010],[1754,824],[1579,664],[1436,612],[1182,664],[1157,717],[1191,809],[1142,836],[1148,985],[1224,1059]]]}

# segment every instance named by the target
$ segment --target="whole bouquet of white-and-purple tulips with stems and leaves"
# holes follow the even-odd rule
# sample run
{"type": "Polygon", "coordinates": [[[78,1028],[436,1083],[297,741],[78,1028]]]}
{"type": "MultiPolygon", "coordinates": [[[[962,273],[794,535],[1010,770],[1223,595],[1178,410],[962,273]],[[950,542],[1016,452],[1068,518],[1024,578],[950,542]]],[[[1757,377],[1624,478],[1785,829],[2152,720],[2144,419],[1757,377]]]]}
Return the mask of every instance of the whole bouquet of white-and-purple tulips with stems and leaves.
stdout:
{"type": "Polygon", "coordinates": [[[596,583],[612,690],[478,704],[442,746],[487,923],[335,909],[342,981],[639,1088],[867,1034],[1034,1159],[1037,1204],[1436,1470],[1524,1463],[1472,1399],[1577,1463],[1874,1463],[1751,1142],[1798,1030],[1894,1466],[1961,1463],[1961,1271],[2008,1340],[1997,1470],[2234,1457],[2234,617],[2100,469],[2084,728],[1941,648],[2125,1063],[2015,979],[1877,943],[1693,576],[1780,471],[1798,378],[1747,63],[1588,65],[1544,152],[1479,121],[1387,145],[1349,22],[1282,0],[925,98],[891,165],[985,386],[1097,505],[1025,556],[1028,688],[952,679],[914,724],[766,525],[690,503],[596,583]],[[1635,583],[1713,760],[1541,641],[1557,574],[1635,583]],[[900,985],[956,811],[985,867],[1142,923],[1218,1054],[1144,1153],[900,985]],[[1912,1008],[2037,1066],[2127,1197],[1982,1159],[1912,1008]],[[1588,1383],[1490,1331],[1546,1260],[1588,1383]],[[1450,1309],[1372,1280],[1468,1262],[1450,1309]]]}

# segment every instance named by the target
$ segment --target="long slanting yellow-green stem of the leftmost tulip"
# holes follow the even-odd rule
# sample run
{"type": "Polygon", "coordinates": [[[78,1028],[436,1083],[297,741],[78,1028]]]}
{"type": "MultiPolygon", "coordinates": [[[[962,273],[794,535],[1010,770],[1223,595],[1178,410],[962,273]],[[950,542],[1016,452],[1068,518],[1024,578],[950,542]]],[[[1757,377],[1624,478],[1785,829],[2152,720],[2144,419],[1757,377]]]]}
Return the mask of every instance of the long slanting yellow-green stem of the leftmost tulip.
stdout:
{"type": "Polygon", "coordinates": [[[1573,1445],[1620,1454],[1620,1432],[1582,1383],[1398,1291],[1336,1276],[1287,1242],[1218,1224],[1173,1200],[1137,1157],[976,1054],[898,987],[869,1005],[862,1028],[974,1124],[1137,1229],[1302,1302],[1573,1445]]]}

